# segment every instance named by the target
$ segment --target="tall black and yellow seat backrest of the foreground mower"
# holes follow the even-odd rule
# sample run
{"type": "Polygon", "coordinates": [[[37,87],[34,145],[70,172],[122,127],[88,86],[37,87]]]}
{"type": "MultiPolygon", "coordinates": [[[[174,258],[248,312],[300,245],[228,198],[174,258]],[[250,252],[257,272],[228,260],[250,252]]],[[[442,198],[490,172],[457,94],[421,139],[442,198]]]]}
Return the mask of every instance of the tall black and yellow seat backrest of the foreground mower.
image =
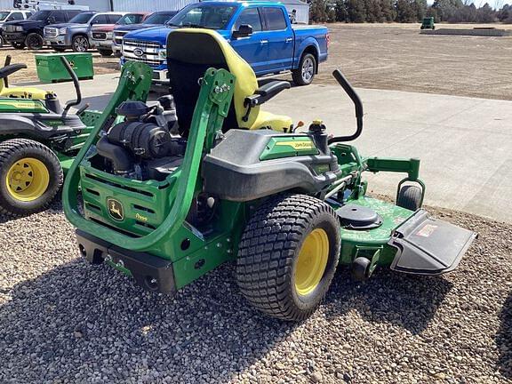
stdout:
{"type": "Polygon", "coordinates": [[[208,68],[224,68],[236,76],[233,103],[224,120],[224,132],[232,128],[249,128],[258,117],[259,106],[251,109],[246,122],[242,120],[247,109],[244,99],[258,89],[254,71],[214,30],[180,28],[172,31],[167,36],[167,67],[182,135],[188,135],[199,97],[198,79],[208,68]]]}

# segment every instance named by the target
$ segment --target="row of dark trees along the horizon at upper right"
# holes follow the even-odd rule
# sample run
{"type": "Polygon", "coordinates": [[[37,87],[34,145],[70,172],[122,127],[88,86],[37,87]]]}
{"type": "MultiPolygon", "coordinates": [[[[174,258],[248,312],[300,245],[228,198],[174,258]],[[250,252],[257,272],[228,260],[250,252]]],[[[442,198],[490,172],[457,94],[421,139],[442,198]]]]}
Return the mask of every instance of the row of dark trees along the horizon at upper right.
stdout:
{"type": "Polygon", "coordinates": [[[512,23],[512,5],[499,10],[485,3],[480,7],[468,0],[311,0],[309,19],[315,22],[436,22],[512,23]]]}

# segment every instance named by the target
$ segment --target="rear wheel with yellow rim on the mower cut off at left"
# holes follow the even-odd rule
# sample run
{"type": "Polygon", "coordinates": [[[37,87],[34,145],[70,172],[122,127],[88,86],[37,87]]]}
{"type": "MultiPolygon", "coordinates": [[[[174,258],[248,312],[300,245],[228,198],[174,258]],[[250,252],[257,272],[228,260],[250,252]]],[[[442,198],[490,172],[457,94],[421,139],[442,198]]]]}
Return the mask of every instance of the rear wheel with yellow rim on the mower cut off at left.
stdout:
{"type": "Polygon", "coordinates": [[[23,216],[46,209],[63,178],[59,159],[40,142],[0,143],[0,213],[23,216]]]}

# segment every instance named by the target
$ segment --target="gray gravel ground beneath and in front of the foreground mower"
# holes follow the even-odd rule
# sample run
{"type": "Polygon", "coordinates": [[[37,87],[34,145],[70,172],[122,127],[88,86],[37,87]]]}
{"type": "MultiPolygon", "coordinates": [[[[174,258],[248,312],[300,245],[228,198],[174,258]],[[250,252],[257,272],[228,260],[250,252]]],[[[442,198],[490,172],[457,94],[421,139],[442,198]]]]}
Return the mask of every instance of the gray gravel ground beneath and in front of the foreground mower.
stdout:
{"type": "Polygon", "coordinates": [[[512,382],[512,226],[436,213],[480,234],[454,273],[341,268],[295,325],[247,308],[231,265],[169,299],[78,259],[58,204],[0,218],[0,382],[512,382]]]}

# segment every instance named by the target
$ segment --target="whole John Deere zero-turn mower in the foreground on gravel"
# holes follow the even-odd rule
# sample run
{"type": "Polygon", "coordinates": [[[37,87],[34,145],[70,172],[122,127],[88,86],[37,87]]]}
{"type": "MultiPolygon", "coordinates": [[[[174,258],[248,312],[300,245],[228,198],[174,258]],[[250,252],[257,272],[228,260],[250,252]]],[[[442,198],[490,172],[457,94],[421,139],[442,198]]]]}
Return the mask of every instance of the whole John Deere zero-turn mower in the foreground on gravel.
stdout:
{"type": "Polygon", "coordinates": [[[457,267],[475,234],[420,209],[419,160],[364,157],[348,144],[363,131],[363,106],[340,71],[357,130],[329,139],[320,121],[299,132],[260,110],[290,85],[259,87],[214,31],[172,32],[167,58],[179,135],[144,103],[122,102],[126,88],[148,85],[143,64],[131,63],[130,82],[65,181],[65,212],[87,260],[165,293],[236,261],[252,306],[292,321],[315,310],[339,264],[358,279],[378,266],[420,275],[457,267]],[[396,204],[365,196],[364,172],[404,173],[396,204]]]}

